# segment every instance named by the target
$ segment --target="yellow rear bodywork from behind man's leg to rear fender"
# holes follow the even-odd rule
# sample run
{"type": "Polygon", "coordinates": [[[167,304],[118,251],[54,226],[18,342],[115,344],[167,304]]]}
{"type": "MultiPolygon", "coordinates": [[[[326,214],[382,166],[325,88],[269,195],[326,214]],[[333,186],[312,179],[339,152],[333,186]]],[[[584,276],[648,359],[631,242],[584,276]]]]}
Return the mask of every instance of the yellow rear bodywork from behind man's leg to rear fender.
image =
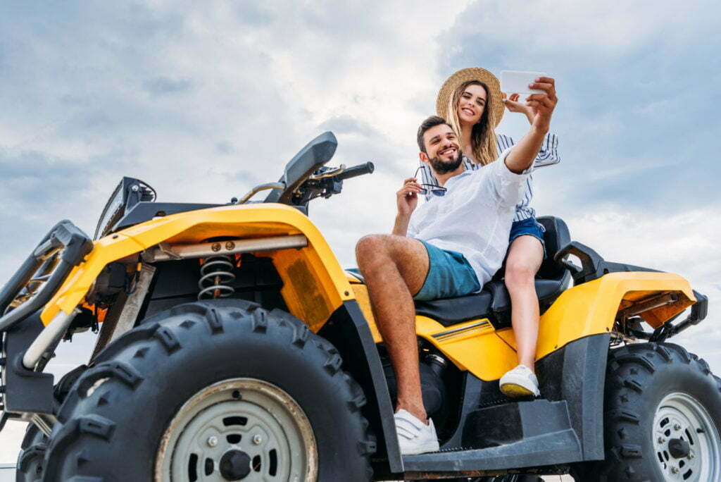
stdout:
{"type": "MultiPolygon", "coordinates": [[[[373,320],[366,286],[355,282],[351,286],[368,320],[373,341],[380,343],[383,338],[373,320]]],[[[567,289],[541,316],[536,360],[579,338],[613,330],[619,310],[669,294],[676,301],[640,314],[653,328],[696,302],[686,279],[673,273],[609,273],[567,289]]],[[[436,320],[417,316],[416,333],[443,352],[456,367],[481,380],[497,380],[518,364],[513,329],[496,330],[486,318],[443,326],[436,320]]]]}

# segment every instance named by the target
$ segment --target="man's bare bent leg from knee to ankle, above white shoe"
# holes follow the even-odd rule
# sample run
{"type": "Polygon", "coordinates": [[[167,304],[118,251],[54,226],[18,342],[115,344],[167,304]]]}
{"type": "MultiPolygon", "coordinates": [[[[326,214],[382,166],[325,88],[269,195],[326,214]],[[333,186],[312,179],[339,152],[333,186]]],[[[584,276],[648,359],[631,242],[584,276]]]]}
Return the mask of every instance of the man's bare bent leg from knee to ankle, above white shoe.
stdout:
{"type": "Polygon", "coordinates": [[[428,421],[420,390],[415,307],[428,273],[428,252],[422,242],[396,235],[371,235],[355,247],[358,268],[366,279],[373,316],[391,357],[398,384],[396,410],[428,421]]]}

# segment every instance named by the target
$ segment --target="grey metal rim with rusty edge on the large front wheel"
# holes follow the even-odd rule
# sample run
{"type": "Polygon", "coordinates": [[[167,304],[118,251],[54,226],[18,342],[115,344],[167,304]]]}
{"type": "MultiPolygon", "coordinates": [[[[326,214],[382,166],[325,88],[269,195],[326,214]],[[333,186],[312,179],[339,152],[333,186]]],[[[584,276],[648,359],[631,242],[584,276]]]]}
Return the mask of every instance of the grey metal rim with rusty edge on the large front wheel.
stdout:
{"type": "Polygon", "coordinates": [[[317,478],[306,414],[273,384],[224,380],[193,395],[165,431],[155,481],[293,481],[317,478]]]}

